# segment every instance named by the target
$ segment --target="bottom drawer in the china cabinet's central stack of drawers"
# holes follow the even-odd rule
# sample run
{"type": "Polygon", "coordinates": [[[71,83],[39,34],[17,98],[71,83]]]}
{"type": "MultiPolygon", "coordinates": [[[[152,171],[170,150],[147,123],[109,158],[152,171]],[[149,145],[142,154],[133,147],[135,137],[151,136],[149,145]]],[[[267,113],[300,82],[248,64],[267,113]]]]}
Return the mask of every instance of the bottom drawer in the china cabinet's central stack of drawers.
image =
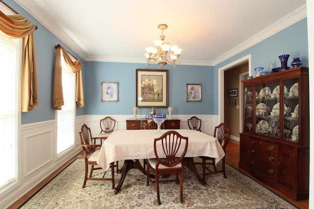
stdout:
{"type": "Polygon", "coordinates": [[[251,156],[251,169],[254,173],[264,176],[267,179],[277,181],[278,165],[274,163],[265,163],[255,156],[251,156]]]}

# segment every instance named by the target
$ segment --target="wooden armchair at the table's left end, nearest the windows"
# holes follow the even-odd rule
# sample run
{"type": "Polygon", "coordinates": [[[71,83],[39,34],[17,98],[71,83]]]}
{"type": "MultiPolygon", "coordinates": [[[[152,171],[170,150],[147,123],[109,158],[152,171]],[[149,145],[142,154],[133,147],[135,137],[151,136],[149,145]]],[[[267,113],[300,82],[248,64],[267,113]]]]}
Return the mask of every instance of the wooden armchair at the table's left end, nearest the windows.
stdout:
{"type": "Polygon", "coordinates": [[[97,158],[99,155],[99,150],[102,147],[102,144],[95,144],[95,140],[92,137],[90,128],[84,123],[79,131],[79,139],[84,152],[84,161],[85,161],[85,177],[83,188],[86,186],[87,180],[98,180],[98,181],[112,181],[112,188],[114,189],[114,163],[110,163],[111,167],[111,178],[96,178],[92,177],[94,170],[102,169],[97,166],[97,158]],[[88,167],[91,165],[90,174],[88,176],[88,167]]]}

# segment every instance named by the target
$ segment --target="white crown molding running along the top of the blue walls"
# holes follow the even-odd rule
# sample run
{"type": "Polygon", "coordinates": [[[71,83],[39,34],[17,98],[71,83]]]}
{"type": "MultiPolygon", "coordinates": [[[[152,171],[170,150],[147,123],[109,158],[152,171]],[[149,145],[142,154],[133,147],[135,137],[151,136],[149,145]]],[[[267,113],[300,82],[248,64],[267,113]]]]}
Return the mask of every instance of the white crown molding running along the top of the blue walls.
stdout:
{"type": "MultiPolygon", "coordinates": [[[[32,15],[39,23],[44,25],[53,35],[60,39],[64,44],[71,48],[75,53],[78,54],[84,61],[94,61],[94,62],[119,62],[119,63],[146,63],[145,58],[132,58],[132,57],[100,57],[100,56],[88,56],[88,51],[91,51],[88,48],[85,48],[87,52],[84,52],[82,46],[85,46],[84,43],[81,43],[80,40],[73,40],[70,38],[67,33],[60,29],[58,25],[55,25],[45,13],[41,12],[37,4],[34,1],[24,1],[24,0],[15,0],[21,7],[23,7],[30,15],[32,15]],[[33,14],[27,8],[36,8],[37,15],[33,14]],[[45,21],[44,21],[45,20],[45,21]],[[45,24],[44,24],[45,22],[45,24]]],[[[33,11],[34,11],[33,10],[33,11]]],[[[306,4],[302,7],[296,9],[295,11],[288,14],[286,17],[277,21],[276,23],[271,24],[261,32],[247,39],[243,43],[235,46],[224,54],[220,55],[212,61],[197,61],[197,60],[182,60],[182,65],[195,65],[195,66],[215,66],[232,56],[238,54],[239,52],[256,45],[257,43],[265,40],[266,38],[278,33],[279,31],[287,28],[288,26],[304,19],[307,17],[306,4]]]]}

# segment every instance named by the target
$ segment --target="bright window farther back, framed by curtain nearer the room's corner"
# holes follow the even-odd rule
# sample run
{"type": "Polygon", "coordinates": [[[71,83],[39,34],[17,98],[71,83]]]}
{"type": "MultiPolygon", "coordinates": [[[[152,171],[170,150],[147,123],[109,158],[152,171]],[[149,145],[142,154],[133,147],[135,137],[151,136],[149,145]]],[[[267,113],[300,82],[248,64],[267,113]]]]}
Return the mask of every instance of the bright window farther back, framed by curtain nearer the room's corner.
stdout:
{"type": "Polygon", "coordinates": [[[61,64],[64,105],[57,110],[57,154],[73,147],[75,141],[76,74],[65,64],[62,51],[61,64]]]}

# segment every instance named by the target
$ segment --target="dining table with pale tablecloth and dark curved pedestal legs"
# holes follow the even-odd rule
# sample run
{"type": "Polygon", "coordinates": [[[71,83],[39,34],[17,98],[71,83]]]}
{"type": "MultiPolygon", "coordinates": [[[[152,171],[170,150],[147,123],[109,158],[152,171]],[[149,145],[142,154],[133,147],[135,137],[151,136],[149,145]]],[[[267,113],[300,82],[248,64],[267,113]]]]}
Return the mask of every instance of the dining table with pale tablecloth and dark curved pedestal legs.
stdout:
{"type": "MultiPolygon", "coordinates": [[[[205,181],[197,172],[193,158],[198,156],[207,156],[215,159],[218,163],[224,156],[219,141],[208,134],[190,130],[174,129],[180,135],[188,137],[188,147],[184,157],[184,166],[190,168],[197,180],[205,185],[205,181]]],[[[140,159],[156,158],[154,152],[154,139],[166,133],[167,129],[161,129],[159,132],[155,129],[146,130],[118,130],[110,134],[105,139],[97,159],[97,164],[105,171],[110,163],[124,160],[121,178],[119,184],[115,187],[114,194],[119,192],[126,175],[133,168],[139,169],[144,175],[147,174],[143,168],[140,159]]]]}

